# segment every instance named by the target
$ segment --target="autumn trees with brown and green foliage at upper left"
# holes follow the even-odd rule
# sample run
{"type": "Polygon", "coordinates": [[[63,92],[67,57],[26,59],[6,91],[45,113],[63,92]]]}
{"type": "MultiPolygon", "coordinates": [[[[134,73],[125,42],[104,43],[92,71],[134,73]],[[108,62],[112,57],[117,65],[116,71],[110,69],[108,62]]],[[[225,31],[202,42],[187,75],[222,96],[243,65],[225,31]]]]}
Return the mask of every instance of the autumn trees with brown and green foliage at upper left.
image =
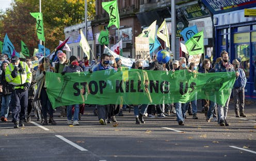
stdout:
{"type": "MultiPolygon", "coordinates": [[[[95,15],[95,0],[88,0],[88,20],[95,15]]],[[[64,28],[84,22],[84,0],[48,0],[42,1],[43,27],[45,33],[45,47],[53,50],[64,40],[64,28]]],[[[30,53],[37,48],[36,20],[29,12],[39,11],[38,0],[16,0],[13,8],[5,13],[0,12],[0,36],[5,33],[13,43],[16,50],[20,51],[21,40],[26,43],[30,53]]],[[[3,41],[3,40],[2,40],[3,41]]]]}

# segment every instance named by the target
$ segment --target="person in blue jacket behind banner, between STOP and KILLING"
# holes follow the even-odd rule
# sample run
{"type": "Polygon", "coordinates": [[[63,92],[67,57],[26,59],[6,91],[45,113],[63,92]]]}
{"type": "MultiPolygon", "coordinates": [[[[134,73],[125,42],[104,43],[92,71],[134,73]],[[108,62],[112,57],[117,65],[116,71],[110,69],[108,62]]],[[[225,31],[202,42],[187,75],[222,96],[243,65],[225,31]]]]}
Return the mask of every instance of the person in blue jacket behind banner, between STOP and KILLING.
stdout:
{"type": "MultiPolygon", "coordinates": [[[[93,67],[93,71],[99,71],[99,70],[108,70],[108,69],[113,69],[113,67],[111,67],[109,65],[109,55],[107,55],[106,53],[103,53],[101,55],[101,62],[97,65],[95,65],[93,67]]],[[[92,72],[92,71],[90,71],[92,72]]],[[[100,120],[100,123],[102,125],[107,124],[107,118],[109,116],[109,111],[110,111],[110,105],[97,105],[97,109],[98,109],[98,118],[100,120]]]]}

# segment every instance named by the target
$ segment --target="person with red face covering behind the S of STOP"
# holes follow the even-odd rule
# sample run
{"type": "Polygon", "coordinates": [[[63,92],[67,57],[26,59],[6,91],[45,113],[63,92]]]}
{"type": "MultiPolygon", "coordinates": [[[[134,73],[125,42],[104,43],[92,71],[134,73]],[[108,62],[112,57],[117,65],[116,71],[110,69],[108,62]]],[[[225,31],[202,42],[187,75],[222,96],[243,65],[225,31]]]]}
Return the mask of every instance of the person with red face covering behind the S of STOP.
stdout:
{"type": "MultiPolygon", "coordinates": [[[[70,57],[71,64],[66,66],[63,71],[61,72],[62,75],[66,73],[75,73],[75,72],[83,72],[83,69],[79,66],[77,62],[77,58],[75,56],[70,57]]],[[[72,124],[72,106],[74,106],[74,116],[73,116],[73,126],[79,125],[78,116],[79,116],[79,104],[73,104],[67,106],[67,123],[69,125],[72,124]]]]}

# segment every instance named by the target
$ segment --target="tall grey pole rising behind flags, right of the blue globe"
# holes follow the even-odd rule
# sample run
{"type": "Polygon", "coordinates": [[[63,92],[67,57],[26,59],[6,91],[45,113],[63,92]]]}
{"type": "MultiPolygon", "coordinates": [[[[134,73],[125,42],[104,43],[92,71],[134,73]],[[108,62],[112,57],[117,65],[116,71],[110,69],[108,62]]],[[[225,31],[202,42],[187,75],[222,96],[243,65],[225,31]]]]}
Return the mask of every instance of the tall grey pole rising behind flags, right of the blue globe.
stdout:
{"type": "Polygon", "coordinates": [[[171,52],[173,57],[176,58],[176,9],[175,0],[171,1],[171,52]]]}

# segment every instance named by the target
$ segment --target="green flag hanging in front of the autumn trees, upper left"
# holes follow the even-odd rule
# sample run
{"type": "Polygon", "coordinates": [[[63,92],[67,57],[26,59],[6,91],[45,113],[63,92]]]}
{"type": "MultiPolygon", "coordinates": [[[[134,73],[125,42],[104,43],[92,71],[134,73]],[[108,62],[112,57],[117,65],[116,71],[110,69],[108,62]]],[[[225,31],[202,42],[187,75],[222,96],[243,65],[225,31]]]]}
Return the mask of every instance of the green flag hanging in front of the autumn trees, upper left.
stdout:
{"type": "Polygon", "coordinates": [[[38,37],[38,39],[45,41],[44,30],[43,30],[43,13],[40,13],[40,12],[31,13],[30,12],[30,14],[37,20],[37,37],[38,37]]]}

